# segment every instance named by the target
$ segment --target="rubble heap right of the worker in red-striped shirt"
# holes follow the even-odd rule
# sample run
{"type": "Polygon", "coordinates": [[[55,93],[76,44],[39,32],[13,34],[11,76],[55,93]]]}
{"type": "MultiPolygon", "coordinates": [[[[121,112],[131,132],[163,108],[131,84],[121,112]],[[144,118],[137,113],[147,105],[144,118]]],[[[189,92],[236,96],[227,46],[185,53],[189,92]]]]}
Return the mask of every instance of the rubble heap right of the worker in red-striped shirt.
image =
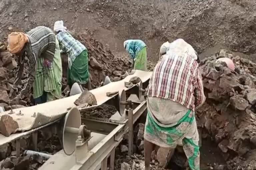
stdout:
{"type": "MultiPolygon", "coordinates": [[[[228,161],[228,169],[256,168],[255,164],[242,164],[250,150],[256,147],[256,64],[221,50],[200,63],[202,69],[205,104],[197,111],[197,124],[202,138],[210,136],[228,161]],[[217,63],[228,57],[235,70],[217,63]],[[252,166],[253,165],[253,166],[252,166]]],[[[255,160],[255,159],[254,159],[255,160]]]]}

